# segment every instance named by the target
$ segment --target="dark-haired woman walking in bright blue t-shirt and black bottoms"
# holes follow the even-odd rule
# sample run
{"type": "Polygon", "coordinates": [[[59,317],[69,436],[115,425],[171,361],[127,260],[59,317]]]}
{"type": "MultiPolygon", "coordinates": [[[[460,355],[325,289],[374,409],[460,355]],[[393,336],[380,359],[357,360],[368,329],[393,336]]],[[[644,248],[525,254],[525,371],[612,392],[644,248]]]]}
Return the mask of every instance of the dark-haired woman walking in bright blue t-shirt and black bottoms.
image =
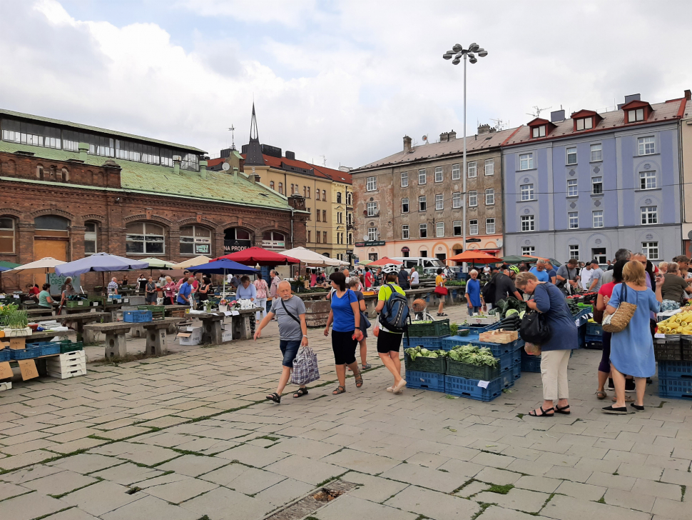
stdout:
{"type": "Polygon", "coordinates": [[[329,336],[329,328],[332,327],[332,351],[334,351],[334,364],[336,368],[339,386],[332,392],[333,395],[343,394],[346,391],[346,366],[353,371],[355,386],[363,386],[363,377],[355,360],[355,347],[362,339],[360,331],[360,306],[356,294],[347,288],[346,276],[341,273],[329,275],[332,281],[331,303],[325,336],[329,336]]]}

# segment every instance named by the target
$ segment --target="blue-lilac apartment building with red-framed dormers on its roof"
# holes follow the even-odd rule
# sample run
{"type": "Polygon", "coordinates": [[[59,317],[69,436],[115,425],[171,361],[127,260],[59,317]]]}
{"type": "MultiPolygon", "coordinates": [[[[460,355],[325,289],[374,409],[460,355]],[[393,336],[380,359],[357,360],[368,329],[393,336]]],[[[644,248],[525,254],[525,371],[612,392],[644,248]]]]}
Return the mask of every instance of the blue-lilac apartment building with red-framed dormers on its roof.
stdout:
{"type": "Polygon", "coordinates": [[[678,121],[686,99],[536,118],[502,144],[504,253],[605,263],[683,252],[678,121]]]}

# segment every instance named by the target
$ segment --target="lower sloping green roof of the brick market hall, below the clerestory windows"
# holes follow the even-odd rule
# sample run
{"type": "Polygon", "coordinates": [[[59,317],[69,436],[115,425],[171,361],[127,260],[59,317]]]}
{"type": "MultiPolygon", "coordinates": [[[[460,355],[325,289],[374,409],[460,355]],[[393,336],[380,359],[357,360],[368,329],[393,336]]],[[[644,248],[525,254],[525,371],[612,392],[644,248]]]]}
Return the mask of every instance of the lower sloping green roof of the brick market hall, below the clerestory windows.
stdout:
{"type": "MultiPolygon", "coordinates": [[[[15,151],[29,151],[33,152],[35,157],[49,161],[79,159],[78,152],[7,141],[0,141],[0,151],[10,154],[14,154],[15,151]]],[[[85,164],[98,167],[102,166],[109,159],[111,158],[87,155],[85,164]]],[[[173,173],[173,168],[167,166],[125,161],[123,159],[116,159],[115,162],[118,166],[121,166],[121,186],[127,191],[183,196],[191,199],[205,199],[230,204],[242,204],[244,206],[290,209],[288,199],[285,196],[269,189],[264,184],[250,182],[248,176],[243,173],[233,175],[225,171],[207,170],[206,179],[202,179],[199,171],[181,169],[180,174],[175,174],[173,173]]],[[[73,186],[78,187],[79,185],[74,184],[73,186]]],[[[91,188],[92,186],[89,187],[91,188]]]]}

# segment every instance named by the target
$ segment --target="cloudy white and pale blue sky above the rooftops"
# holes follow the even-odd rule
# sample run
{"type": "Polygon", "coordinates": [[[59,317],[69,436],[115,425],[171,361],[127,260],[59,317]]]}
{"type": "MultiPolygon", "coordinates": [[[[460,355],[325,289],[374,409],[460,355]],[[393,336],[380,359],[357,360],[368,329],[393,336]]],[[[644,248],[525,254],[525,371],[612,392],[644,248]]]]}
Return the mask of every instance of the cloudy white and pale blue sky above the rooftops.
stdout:
{"type": "Polygon", "coordinates": [[[198,146],[260,140],[360,166],[534,106],[613,109],[692,88],[692,2],[0,0],[0,107],[198,146]]]}

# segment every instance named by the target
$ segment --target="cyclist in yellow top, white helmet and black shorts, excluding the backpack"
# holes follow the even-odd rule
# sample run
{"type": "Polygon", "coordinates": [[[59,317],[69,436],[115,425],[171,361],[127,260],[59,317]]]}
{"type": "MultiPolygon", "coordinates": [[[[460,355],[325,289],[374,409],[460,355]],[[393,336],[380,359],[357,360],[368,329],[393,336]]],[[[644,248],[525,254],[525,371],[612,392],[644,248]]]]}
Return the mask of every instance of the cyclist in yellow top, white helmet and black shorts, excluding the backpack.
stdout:
{"type": "MultiPolygon", "coordinates": [[[[392,296],[392,289],[406,296],[404,289],[397,284],[399,269],[395,264],[387,264],[382,267],[382,276],[385,276],[385,284],[380,287],[380,294],[377,296],[377,307],[375,307],[375,311],[377,311],[378,314],[385,308],[387,299],[392,296]]],[[[380,354],[382,364],[384,364],[387,370],[394,376],[394,384],[387,388],[387,391],[401,394],[404,390],[404,386],[406,386],[406,380],[401,376],[401,360],[399,358],[403,334],[388,331],[385,326],[382,326],[382,322],[380,321],[378,321],[378,324],[375,326],[374,332],[375,336],[377,336],[377,354],[380,354]],[[377,329],[377,327],[379,327],[379,329],[377,329]]]]}

